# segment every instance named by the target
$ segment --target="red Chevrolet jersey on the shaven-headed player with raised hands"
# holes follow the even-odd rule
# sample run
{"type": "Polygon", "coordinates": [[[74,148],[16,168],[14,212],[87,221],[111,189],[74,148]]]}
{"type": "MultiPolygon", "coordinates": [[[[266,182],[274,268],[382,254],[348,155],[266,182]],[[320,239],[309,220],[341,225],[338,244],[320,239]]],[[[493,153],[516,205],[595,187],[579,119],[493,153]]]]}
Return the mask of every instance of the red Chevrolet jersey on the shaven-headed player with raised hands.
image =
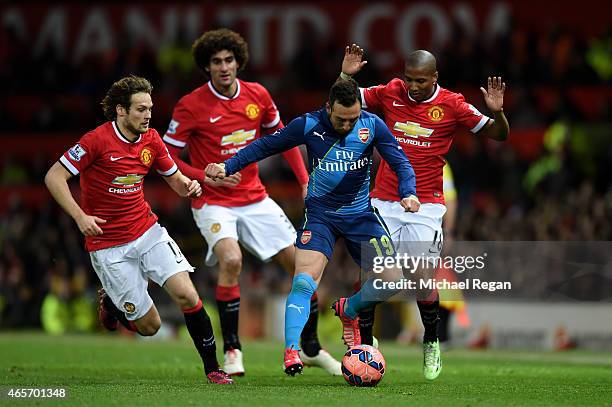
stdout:
{"type": "MultiPolygon", "coordinates": [[[[444,155],[453,141],[458,125],[472,133],[484,127],[489,118],[453,93],[436,85],[434,94],[423,102],[415,101],[403,80],[393,79],[386,85],[362,89],[363,106],[376,109],[410,160],[422,203],[444,203],[442,168],[444,155]]],[[[381,161],[373,198],[398,201],[397,176],[381,161]]]]}

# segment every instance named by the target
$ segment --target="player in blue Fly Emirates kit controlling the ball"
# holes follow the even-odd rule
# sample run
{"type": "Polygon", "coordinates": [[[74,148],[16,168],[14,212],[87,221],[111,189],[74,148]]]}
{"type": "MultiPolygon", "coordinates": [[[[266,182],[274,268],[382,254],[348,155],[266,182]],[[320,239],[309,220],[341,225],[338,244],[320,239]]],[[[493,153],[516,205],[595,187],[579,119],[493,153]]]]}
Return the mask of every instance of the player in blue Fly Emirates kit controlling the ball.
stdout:
{"type": "MultiPolygon", "coordinates": [[[[224,178],[300,144],[305,144],[308,151],[310,176],[304,221],[295,243],[295,274],[285,304],[284,366],[285,373],[292,376],[303,368],[300,333],[308,320],[310,297],[332,257],[336,240],[344,237],[349,253],[364,271],[372,270],[373,256],[394,254],[385,223],[370,204],[374,147],[397,174],[404,210],[416,212],[420,206],[410,162],[384,122],[361,110],[359,88],[352,79],[334,83],[325,108],[294,119],[224,163],[209,164],[206,174],[213,179],[224,178]]],[[[367,280],[359,292],[332,306],[342,321],[347,346],[361,343],[357,313],[396,292],[381,293],[372,281],[367,280]]]]}

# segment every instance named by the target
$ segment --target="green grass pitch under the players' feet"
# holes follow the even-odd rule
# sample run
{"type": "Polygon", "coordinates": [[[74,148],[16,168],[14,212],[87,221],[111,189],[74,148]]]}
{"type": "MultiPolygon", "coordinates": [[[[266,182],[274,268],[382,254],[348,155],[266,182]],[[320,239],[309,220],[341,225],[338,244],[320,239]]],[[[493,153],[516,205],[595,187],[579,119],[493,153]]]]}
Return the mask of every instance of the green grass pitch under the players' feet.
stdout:
{"type": "MultiPolygon", "coordinates": [[[[18,405],[612,405],[612,354],[443,352],[438,380],[421,374],[421,350],[383,343],[387,372],[375,388],[307,368],[287,377],[282,345],[243,345],[247,375],[235,386],[207,384],[190,342],[141,341],[118,335],[51,337],[0,334],[0,388],[66,388],[66,400],[18,405]]],[[[335,356],[343,347],[331,349],[335,356]]],[[[0,404],[7,400],[0,396],[0,404]]]]}

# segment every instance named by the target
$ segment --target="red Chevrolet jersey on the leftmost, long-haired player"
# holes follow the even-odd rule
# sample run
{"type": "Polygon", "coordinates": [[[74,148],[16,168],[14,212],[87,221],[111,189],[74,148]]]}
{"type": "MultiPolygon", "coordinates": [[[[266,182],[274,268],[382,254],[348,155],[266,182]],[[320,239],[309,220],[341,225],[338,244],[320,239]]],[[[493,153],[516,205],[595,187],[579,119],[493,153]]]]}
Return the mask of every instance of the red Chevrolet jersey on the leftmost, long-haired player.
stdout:
{"type": "Polygon", "coordinates": [[[60,163],[81,175],[83,211],[106,220],[99,225],[101,235],[85,237],[89,251],[125,244],[146,232],[157,216],[144,199],[144,176],[151,167],[165,176],[178,169],[157,131],[149,129],[131,142],[115,122],[85,134],[60,163]]]}

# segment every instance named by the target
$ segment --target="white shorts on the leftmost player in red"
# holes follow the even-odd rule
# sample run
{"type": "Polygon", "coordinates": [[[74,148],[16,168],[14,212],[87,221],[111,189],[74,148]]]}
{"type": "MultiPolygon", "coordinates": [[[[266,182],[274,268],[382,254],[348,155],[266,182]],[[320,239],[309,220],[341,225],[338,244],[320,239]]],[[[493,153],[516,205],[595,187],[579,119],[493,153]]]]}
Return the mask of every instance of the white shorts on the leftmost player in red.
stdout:
{"type": "Polygon", "coordinates": [[[128,320],[143,317],[153,306],[149,279],[160,287],[181,271],[193,267],[166,228],[155,223],[138,239],[89,253],[102,287],[128,320]]]}

